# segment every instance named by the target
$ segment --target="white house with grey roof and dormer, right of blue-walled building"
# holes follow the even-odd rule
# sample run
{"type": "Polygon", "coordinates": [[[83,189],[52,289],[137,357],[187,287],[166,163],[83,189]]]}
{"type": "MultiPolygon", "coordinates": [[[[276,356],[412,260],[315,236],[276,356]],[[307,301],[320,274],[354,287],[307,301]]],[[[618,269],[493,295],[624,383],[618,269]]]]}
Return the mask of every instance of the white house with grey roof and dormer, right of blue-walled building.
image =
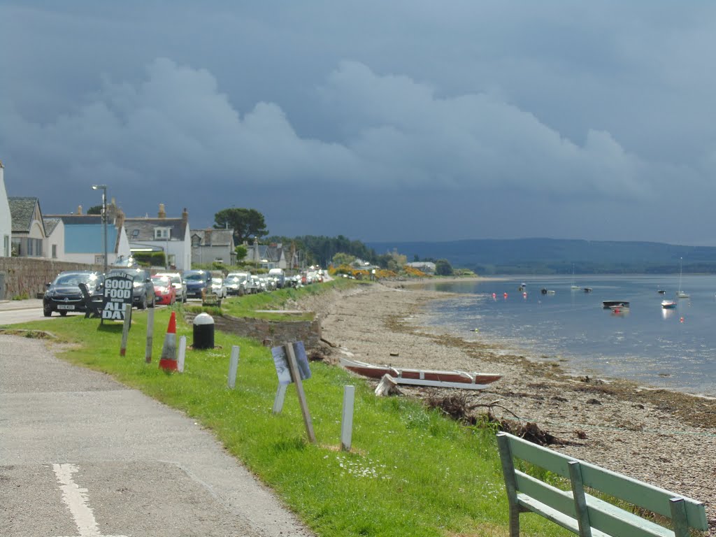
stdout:
{"type": "Polygon", "coordinates": [[[167,218],[164,203],[159,204],[157,218],[125,218],[132,253],[164,252],[168,267],[178,271],[191,269],[189,213],[184,208],[181,218],[167,218]]]}

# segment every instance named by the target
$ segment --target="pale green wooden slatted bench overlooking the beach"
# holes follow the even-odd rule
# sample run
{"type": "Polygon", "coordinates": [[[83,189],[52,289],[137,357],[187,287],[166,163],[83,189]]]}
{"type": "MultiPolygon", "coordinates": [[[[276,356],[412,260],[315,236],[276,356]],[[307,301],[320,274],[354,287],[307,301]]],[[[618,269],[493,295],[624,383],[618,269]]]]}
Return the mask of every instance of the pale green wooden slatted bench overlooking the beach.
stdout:
{"type": "Polygon", "coordinates": [[[499,432],[500,460],[510,505],[510,536],[520,533],[520,513],[533,512],[581,537],[688,537],[707,531],[704,504],[663,488],[628,478],[556,451],[499,432]],[[519,459],[569,480],[571,490],[548,485],[516,470],[519,459]],[[673,530],[624,511],[584,491],[590,488],[644,508],[671,521],[673,530]]]}

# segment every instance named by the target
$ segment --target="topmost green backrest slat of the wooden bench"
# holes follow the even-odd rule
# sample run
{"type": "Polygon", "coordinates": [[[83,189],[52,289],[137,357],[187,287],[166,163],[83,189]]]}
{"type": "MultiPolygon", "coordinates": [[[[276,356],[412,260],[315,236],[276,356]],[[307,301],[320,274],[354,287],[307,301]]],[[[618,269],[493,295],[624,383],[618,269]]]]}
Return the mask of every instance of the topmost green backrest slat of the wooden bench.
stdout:
{"type": "MultiPolygon", "coordinates": [[[[514,435],[508,435],[508,433],[500,433],[500,435],[507,435],[513,457],[526,460],[528,463],[561,475],[563,478],[569,478],[569,462],[579,460],[548,448],[543,448],[514,435]]],[[[708,529],[706,511],[702,502],[672,493],[663,488],[654,487],[648,483],[642,483],[626,475],[612,472],[581,460],[579,460],[579,463],[581,465],[582,482],[585,486],[600,490],[605,494],[614,496],[614,498],[620,498],[668,518],[671,518],[669,500],[674,497],[684,498],[684,508],[689,526],[701,531],[708,529]]]]}

